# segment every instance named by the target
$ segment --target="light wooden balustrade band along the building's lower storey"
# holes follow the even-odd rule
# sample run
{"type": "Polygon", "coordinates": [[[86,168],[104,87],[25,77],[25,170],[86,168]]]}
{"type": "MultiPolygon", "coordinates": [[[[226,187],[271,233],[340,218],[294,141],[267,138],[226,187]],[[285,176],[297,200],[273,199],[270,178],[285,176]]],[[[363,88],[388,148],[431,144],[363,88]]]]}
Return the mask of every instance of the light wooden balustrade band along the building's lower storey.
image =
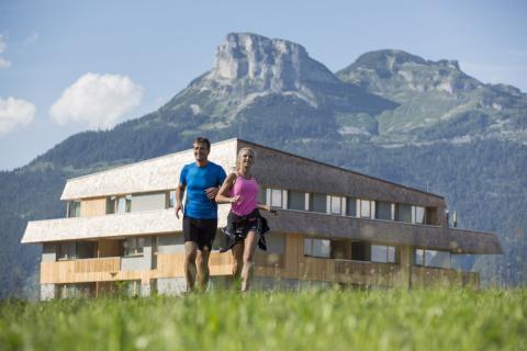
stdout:
{"type": "MultiPolygon", "coordinates": [[[[401,258],[399,263],[373,263],[367,261],[325,259],[305,257],[303,236],[285,236],[284,254],[257,251],[255,276],[277,281],[282,279],[315,281],[350,286],[380,287],[426,287],[426,286],[470,286],[479,287],[479,274],[459,272],[452,269],[413,267],[401,258]]],[[[112,241],[112,240],[105,240],[112,241]]],[[[115,244],[109,247],[114,248],[115,244]]],[[[100,245],[104,248],[104,245],[100,245]]],[[[106,251],[103,249],[102,251],[106,251]]],[[[401,256],[404,256],[404,251],[401,256]]],[[[86,282],[141,281],[149,284],[160,278],[182,278],[183,253],[157,253],[157,267],[150,270],[121,269],[121,257],[100,257],[69,261],[42,262],[42,284],[70,284],[86,282]]],[[[209,261],[211,276],[232,275],[231,252],[212,252],[209,261]]]]}

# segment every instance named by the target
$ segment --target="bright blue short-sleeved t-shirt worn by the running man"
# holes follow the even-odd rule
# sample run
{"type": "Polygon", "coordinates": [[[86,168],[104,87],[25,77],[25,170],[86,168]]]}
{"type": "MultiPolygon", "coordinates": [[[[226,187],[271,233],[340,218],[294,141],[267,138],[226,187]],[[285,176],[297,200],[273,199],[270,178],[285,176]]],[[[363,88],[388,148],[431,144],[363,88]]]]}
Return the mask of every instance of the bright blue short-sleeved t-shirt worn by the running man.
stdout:
{"type": "Polygon", "coordinates": [[[216,202],[206,197],[205,189],[221,186],[227,174],[223,168],[211,161],[204,167],[199,167],[195,162],[184,166],[179,176],[179,183],[187,185],[184,216],[199,219],[217,218],[216,202]]]}

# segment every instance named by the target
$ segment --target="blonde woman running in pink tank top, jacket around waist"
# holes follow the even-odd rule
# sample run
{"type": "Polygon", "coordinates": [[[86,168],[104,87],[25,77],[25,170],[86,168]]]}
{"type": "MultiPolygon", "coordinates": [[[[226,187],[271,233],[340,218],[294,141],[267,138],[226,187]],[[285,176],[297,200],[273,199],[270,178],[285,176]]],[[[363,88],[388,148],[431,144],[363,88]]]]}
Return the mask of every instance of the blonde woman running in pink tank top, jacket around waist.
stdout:
{"type": "Polygon", "coordinates": [[[216,195],[217,203],[232,204],[224,229],[227,246],[221,251],[232,250],[233,275],[235,279],[242,275],[243,292],[249,288],[257,244],[266,250],[264,235],[269,227],[258,208],[276,213],[270,206],[258,204],[259,185],[250,172],[254,163],[255,151],[248,147],[242,148],[236,160],[236,172],[227,176],[216,195]]]}

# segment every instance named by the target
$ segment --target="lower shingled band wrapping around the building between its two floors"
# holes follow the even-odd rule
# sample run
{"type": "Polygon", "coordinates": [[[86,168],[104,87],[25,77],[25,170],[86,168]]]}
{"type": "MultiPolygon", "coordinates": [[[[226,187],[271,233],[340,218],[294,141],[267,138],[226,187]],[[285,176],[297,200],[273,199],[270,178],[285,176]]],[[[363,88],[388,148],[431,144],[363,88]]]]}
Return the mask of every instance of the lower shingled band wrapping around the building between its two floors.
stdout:
{"type": "MultiPolygon", "coordinates": [[[[218,206],[218,227],[226,225],[228,205],[218,206]]],[[[502,253],[497,237],[490,233],[328,215],[305,211],[262,212],[273,231],[299,233],[333,239],[355,239],[411,245],[455,253],[502,253]]],[[[59,218],[27,223],[22,244],[162,235],[182,230],[173,208],[96,217],[59,218]]],[[[272,234],[271,234],[272,235],[272,234]]]]}

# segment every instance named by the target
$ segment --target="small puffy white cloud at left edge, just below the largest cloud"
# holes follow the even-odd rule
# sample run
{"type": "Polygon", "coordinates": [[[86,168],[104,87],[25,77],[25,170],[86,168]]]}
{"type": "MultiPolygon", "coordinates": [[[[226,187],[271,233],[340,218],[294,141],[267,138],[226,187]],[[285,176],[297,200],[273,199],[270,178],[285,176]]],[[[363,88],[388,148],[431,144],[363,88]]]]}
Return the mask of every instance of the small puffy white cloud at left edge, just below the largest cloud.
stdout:
{"type": "Polygon", "coordinates": [[[36,107],[22,99],[0,98],[0,135],[8,134],[18,125],[29,125],[35,117],[36,107]]]}

